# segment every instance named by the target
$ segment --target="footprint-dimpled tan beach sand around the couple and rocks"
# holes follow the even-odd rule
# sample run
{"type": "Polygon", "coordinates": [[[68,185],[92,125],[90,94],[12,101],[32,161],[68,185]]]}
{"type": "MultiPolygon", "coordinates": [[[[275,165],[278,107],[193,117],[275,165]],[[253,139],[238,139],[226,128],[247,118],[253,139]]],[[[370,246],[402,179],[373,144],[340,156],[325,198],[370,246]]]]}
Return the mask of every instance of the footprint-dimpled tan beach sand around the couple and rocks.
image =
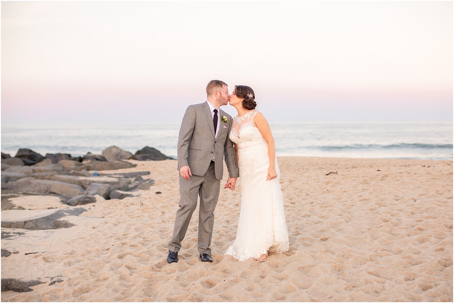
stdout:
{"type": "MultiPolygon", "coordinates": [[[[196,210],[174,264],[177,161],[132,162],[118,172],[151,171],[149,191],[97,196],[68,217],[77,226],[2,239],[17,252],[1,258],[2,279],[45,282],[2,301],[453,301],[453,161],[279,157],[289,251],[263,263],[223,256],[237,186],[221,189],[213,263],[198,259],[196,210]]],[[[14,199],[27,210],[56,205],[14,199]]]]}

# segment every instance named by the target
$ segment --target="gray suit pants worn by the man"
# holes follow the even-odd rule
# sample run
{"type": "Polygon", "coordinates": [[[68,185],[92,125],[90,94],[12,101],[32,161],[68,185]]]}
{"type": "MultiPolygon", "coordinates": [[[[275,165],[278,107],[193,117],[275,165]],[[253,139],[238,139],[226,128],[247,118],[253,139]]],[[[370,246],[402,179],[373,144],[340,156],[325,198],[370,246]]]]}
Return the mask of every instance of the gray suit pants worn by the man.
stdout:
{"type": "Polygon", "coordinates": [[[180,176],[180,208],[177,210],[173,237],[169,241],[170,251],[179,251],[181,241],[188,230],[192,213],[197,207],[197,196],[200,196],[198,244],[200,254],[211,254],[210,244],[213,233],[214,209],[219,198],[221,180],[217,180],[214,163],[211,163],[204,176],[190,176],[190,180],[180,176]]]}

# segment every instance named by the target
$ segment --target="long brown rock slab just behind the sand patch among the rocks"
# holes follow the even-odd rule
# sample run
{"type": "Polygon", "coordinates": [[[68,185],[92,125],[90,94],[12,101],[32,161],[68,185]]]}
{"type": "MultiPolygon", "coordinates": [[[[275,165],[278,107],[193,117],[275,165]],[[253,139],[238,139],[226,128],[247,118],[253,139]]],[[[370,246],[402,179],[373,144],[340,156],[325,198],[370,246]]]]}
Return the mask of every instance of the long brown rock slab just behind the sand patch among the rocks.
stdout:
{"type": "Polygon", "coordinates": [[[6,189],[39,194],[54,193],[65,197],[73,197],[84,191],[78,185],[52,180],[37,180],[31,177],[10,181],[6,184],[6,189]]]}

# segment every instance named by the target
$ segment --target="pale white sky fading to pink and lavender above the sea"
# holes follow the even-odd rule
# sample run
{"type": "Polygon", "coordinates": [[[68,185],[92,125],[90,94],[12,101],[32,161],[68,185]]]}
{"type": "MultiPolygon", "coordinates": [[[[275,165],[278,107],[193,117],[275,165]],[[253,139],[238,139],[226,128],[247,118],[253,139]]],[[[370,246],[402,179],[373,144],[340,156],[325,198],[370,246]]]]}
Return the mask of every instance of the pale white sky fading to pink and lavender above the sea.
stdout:
{"type": "Polygon", "coordinates": [[[2,123],[178,122],[214,78],[271,121],[452,121],[452,5],[2,2],[2,123]]]}

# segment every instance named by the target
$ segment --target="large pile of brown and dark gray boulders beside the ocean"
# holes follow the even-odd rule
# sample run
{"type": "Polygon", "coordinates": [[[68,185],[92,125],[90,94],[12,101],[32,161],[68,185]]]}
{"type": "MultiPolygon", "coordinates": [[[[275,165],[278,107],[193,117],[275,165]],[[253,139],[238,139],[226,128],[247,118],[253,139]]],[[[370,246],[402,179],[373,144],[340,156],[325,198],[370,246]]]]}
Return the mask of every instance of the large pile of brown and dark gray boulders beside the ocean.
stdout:
{"type": "Polygon", "coordinates": [[[129,160],[172,159],[157,149],[144,147],[133,155],[131,152],[111,146],[101,155],[88,152],[85,156],[70,154],[46,154],[42,156],[28,148],[20,148],[14,157],[1,153],[1,189],[9,193],[32,195],[57,195],[68,205],[83,205],[104,199],[124,199],[131,191],[148,190],[153,180],[144,178],[149,171],[103,174],[135,167],[129,160]]]}

